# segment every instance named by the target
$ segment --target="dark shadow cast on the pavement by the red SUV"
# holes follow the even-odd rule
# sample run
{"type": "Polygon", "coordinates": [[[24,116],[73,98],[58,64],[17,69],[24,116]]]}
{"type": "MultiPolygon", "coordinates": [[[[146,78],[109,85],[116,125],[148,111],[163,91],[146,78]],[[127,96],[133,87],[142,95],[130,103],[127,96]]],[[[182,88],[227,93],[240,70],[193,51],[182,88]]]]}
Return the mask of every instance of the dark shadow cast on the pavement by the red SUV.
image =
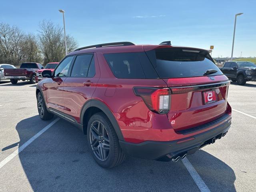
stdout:
{"type": "MultiPolygon", "coordinates": [[[[42,121],[39,116],[20,121],[16,126],[19,146],[51,121],[42,121]]],[[[19,158],[32,189],[37,192],[199,191],[181,161],[128,157],[120,166],[101,168],[88,150],[86,136],[62,119],[20,152],[19,158]]],[[[200,150],[189,160],[212,192],[236,191],[234,171],[218,158],[200,150]]]]}

